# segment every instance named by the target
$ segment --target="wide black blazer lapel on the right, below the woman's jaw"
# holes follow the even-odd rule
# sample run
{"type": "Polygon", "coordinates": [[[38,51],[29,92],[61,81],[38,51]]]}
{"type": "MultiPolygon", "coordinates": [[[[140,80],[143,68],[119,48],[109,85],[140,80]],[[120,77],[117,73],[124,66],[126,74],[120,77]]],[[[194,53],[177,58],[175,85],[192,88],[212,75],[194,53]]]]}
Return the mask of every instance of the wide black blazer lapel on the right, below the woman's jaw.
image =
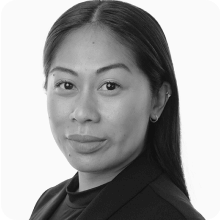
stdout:
{"type": "Polygon", "coordinates": [[[108,219],[161,173],[154,162],[147,161],[145,152],[142,153],[107,184],[77,220],[108,219]]]}

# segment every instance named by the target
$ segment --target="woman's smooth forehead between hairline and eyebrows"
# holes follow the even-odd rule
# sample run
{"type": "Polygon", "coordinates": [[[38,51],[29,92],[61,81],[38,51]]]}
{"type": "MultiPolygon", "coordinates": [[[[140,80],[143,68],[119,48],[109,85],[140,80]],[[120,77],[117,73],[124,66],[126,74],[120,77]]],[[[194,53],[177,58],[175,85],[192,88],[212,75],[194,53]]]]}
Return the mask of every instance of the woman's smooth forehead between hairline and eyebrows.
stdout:
{"type": "Polygon", "coordinates": [[[106,28],[84,26],[72,31],[60,45],[54,65],[108,65],[123,62],[134,65],[133,56],[106,28]]]}

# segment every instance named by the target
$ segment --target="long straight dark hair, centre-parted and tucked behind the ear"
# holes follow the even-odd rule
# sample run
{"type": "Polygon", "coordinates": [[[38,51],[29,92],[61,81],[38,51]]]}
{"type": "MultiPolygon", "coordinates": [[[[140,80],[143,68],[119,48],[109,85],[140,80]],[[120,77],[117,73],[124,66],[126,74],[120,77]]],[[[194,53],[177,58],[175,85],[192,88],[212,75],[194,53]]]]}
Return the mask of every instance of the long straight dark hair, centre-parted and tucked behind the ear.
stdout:
{"type": "Polygon", "coordinates": [[[146,11],[120,1],[86,1],[67,10],[52,26],[44,48],[44,88],[56,51],[64,38],[84,25],[110,30],[132,52],[137,66],[150,81],[152,94],[163,82],[172,96],[157,123],[149,123],[146,150],[169,178],[189,198],[180,155],[179,96],[166,37],[158,22],[146,11]]]}

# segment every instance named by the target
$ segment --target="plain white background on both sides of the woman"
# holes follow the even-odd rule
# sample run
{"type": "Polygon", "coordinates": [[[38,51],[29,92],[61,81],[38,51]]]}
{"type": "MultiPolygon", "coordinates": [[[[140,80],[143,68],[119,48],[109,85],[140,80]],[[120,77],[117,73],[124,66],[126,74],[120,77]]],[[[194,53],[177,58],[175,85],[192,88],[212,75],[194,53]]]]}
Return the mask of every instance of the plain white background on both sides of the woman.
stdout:
{"type": "MultiPolygon", "coordinates": [[[[71,178],[53,140],[43,90],[42,51],[55,20],[79,1],[13,0],[2,11],[2,210],[29,219],[40,195],[71,178]]],[[[209,0],[130,0],[167,37],[180,95],[182,156],[194,207],[220,209],[220,11],[209,0]]]]}

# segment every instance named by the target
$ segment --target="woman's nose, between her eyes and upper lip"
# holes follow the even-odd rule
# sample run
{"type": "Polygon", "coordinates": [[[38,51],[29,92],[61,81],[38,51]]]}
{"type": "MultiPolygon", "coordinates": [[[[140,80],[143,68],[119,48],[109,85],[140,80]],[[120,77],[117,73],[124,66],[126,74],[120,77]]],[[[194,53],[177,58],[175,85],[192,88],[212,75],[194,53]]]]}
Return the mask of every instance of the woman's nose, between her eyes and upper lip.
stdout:
{"type": "Polygon", "coordinates": [[[73,101],[73,111],[69,118],[80,124],[89,121],[97,123],[100,120],[97,102],[91,93],[81,94],[73,101]]]}

